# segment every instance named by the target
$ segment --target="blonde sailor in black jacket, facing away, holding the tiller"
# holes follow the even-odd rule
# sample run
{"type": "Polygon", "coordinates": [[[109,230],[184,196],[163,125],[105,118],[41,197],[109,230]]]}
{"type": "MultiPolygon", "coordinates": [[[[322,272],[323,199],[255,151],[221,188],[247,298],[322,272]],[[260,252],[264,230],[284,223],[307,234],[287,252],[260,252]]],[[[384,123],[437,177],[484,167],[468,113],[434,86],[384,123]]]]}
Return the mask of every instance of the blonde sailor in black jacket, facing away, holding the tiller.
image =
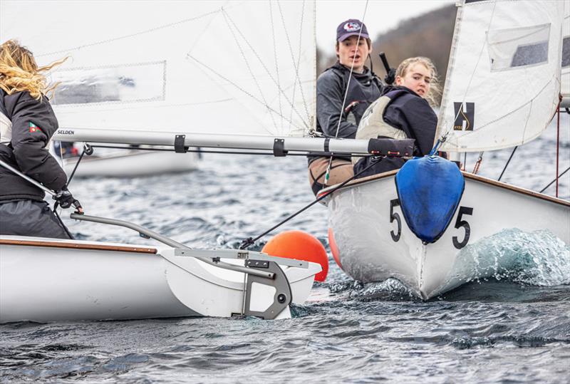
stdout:
{"type": "MultiPolygon", "coordinates": [[[[1,44],[0,160],[57,191],[59,205],[68,208],[78,202],[66,189],[65,172],[46,149],[58,120],[46,97],[56,85],[48,85],[43,75],[63,61],[38,67],[32,53],[17,41],[1,44]]],[[[0,234],[69,239],[44,195],[0,165],[0,234]]]]}

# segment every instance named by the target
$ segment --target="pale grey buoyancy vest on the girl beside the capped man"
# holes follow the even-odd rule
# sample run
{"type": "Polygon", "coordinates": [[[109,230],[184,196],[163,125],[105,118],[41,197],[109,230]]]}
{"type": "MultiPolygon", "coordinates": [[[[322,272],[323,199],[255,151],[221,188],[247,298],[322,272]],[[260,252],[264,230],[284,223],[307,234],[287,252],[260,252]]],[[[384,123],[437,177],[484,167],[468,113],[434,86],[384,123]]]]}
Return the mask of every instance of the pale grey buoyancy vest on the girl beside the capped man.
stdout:
{"type": "MultiPolygon", "coordinates": [[[[356,139],[375,139],[378,137],[386,137],[389,139],[402,140],[408,139],[408,135],[403,130],[395,128],[384,120],[384,113],[388,105],[396,98],[408,93],[405,90],[391,90],[385,95],[375,100],[364,112],[358,130],[356,130],[356,139]]],[[[360,157],[352,157],[353,164],[360,159],[360,157]]]]}

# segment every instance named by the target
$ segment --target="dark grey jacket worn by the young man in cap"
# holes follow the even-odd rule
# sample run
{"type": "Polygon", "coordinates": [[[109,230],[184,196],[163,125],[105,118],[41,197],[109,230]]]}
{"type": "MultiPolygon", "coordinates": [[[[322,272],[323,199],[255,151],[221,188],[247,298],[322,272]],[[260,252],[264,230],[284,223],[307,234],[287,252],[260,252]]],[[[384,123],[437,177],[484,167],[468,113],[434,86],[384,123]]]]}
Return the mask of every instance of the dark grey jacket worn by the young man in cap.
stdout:
{"type": "MultiPolygon", "coordinates": [[[[349,76],[351,76],[350,68],[337,62],[321,73],[316,81],[316,130],[325,137],[335,137],[338,128],[336,137],[353,139],[364,111],[380,97],[383,85],[370,69],[365,67],[363,73],[353,72],[350,82],[349,76]],[[348,94],[341,113],[347,85],[348,94]]],[[[309,163],[317,157],[309,156],[309,163]]],[[[338,158],[351,160],[350,157],[338,158]]]]}

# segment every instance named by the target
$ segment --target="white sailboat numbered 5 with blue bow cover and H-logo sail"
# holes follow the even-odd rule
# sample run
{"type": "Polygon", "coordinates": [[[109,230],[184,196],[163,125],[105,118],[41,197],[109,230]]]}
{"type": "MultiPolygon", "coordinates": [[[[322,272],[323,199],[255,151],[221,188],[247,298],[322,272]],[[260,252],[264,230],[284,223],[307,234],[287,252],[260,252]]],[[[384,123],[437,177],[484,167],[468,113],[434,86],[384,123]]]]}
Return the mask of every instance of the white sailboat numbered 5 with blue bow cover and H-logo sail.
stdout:
{"type": "MultiPolygon", "coordinates": [[[[436,135],[445,138],[442,150],[514,147],[546,129],[559,105],[563,26],[563,105],[569,103],[569,3],[467,0],[459,5],[436,135]]],[[[339,264],[355,279],[396,278],[429,299],[496,273],[497,266],[477,268],[474,252],[504,230],[548,229],[570,244],[569,202],[468,172],[462,172],[465,190],[459,191],[462,197],[447,227],[435,239],[422,238],[416,232],[425,218],[418,216],[429,209],[405,215],[409,201],[396,185],[401,184],[397,174],[353,181],[328,198],[329,239],[339,264]]],[[[414,192],[424,206],[454,192],[437,174],[429,182],[413,180],[418,185],[410,187],[418,189],[414,192]]]]}

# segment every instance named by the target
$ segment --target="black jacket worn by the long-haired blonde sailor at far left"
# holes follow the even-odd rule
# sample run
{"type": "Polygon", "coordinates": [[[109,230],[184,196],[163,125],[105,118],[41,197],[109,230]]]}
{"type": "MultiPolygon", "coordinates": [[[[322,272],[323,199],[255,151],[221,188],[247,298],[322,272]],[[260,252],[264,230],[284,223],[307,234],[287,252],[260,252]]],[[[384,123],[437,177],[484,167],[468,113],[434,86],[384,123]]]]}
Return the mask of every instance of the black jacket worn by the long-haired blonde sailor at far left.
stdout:
{"type": "MultiPolygon", "coordinates": [[[[0,88],[0,112],[11,120],[11,140],[0,136],[0,159],[51,190],[67,182],[57,160],[46,149],[58,120],[46,97],[41,102],[28,92],[8,95],[0,88]]],[[[0,204],[22,199],[41,201],[44,192],[0,166],[0,204]]]]}

